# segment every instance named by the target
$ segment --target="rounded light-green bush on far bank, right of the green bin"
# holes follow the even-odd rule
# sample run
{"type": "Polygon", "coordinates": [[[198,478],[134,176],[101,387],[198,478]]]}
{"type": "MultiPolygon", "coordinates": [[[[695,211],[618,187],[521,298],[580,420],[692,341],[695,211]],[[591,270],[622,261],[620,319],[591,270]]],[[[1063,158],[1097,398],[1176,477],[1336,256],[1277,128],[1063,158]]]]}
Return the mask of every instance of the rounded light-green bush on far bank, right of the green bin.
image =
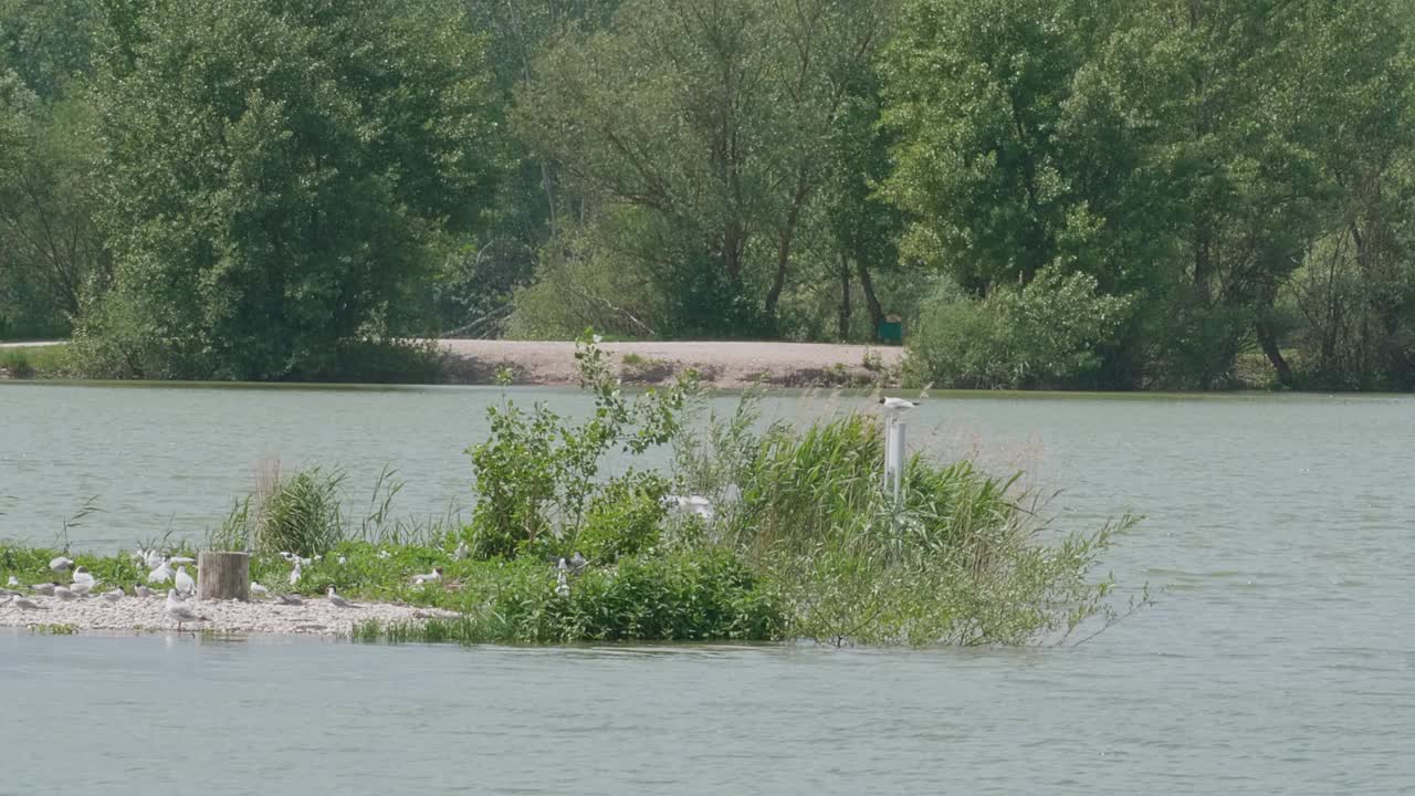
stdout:
{"type": "Polygon", "coordinates": [[[1098,295],[1095,278],[1053,269],[981,300],[945,286],[908,340],[904,378],[982,390],[1088,387],[1128,307],[1126,297],[1098,295]]]}

